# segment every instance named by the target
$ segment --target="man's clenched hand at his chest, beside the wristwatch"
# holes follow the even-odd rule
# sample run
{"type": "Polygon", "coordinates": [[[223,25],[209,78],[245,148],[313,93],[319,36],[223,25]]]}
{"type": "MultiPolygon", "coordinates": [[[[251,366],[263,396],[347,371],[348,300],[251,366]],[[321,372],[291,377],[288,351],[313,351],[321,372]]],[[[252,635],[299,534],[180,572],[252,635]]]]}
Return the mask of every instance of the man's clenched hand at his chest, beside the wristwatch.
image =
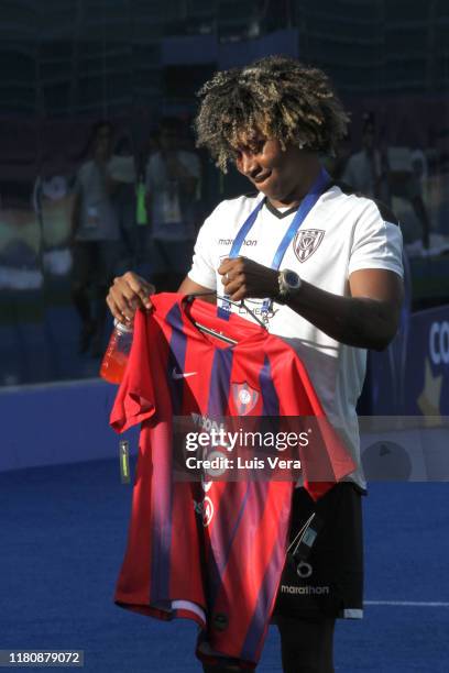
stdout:
{"type": "Polygon", "coordinates": [[[280,291],[278,272],[247,257],[227,257],[221,262],[218,273],[221,275],[225,294],[232,301],[249,297],[274,299],[280,291]]]}

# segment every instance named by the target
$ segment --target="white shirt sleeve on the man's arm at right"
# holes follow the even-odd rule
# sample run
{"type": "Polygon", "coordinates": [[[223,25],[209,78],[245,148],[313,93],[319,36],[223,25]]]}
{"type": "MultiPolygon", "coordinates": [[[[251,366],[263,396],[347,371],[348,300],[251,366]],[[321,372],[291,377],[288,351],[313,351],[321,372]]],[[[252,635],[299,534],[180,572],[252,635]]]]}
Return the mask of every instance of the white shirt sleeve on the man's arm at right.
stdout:
{"type": "Polygon", "coordinates": [[[403,277],[403,239],[397,220],[383,205],[366,202],[354,229],[349,275],[363,268],[384,268],[403,277]]]}

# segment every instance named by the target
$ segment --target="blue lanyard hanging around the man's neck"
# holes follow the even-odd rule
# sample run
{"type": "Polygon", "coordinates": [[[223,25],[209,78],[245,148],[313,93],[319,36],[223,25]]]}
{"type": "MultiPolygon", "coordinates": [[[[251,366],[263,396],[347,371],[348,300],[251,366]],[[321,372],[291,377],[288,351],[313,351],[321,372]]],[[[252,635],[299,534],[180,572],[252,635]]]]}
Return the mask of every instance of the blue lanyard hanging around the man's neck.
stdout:
{"type": "MultiPolygon", "coordinates": [[[[281,266],[281,263],[284,258],[284,255],[287,251],[288,245],[292,243],[294,235],[296,234],[296,232],[298,231],[298,229],[300,228],[300,225],[303,224],[304,220],[306,219],[306,217],[308,216],[308,213],[310,212],[310,210],[314,208],[315,203],[318,201],[319,197],[321,196],[321,194],[325,192],[326,187],[328,186],[330,181],[330,177],[329,174],[327,173],[327,170],[325,170],[325,168],[321,167],[319,175],[317,177],[317,179],[315,180],[315,183],[313,184],[313,186],[310,187],[309,191],[307,192],[307,195],[304,197],[295,217],[292,220],[291,225],[288,227],[287,231],[284,234],[284,238],[282,239],[275,254],[273,257],[273,262],[271,263],[271,268],[275,268],[278,269],[281,266]]],[[[260,203],[258,203],[258,206],[254,208],[254,210],[250,213],[249,218],[245,220],[245,222],[242,224],[242,227],[240,228],[240,230],[237,233],[237,236],[232,243],[231,246],[231,251],[229,253],[229,257],[231,260],[234,260],[236,257],[239,256],[240,254],[240,249],[243,245],[243,241],[245,240],[247,235],[249,234],[251,228],[253,227],[255,220],[258,219],[258,214],[261,210],[261,208],[263,207],[265,202],[265,199],[262,199],[262,201],[260,203]]],[[[222,309],[225,311],[229,311],[230,310],[230,304],[229,301],[227,301],[228,297],[223,298],[223,302],[222,302],[222,309]]],[[[262,311],[265,312],[265,315],[269,312],[271,307],[271,300],[270,299],[264,299],[263,301],[263,307],[262,307],[262,311]]],[[[223,313],[220,315],[223,316],[223,313]]]]}

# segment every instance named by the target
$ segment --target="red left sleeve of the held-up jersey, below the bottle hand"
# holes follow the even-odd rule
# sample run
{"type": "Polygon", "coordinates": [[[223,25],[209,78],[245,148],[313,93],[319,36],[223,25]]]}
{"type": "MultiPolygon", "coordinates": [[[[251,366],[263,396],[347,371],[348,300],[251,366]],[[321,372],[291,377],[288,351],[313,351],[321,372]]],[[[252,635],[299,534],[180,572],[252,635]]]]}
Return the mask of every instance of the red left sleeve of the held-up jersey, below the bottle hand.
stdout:
{"type": "Polygon", "coordinates": [[[130,358],[110,416],[117,432],[153,417],[156,411],[154,368],[152,367],[151,316],[138,311],[130,358]]]}

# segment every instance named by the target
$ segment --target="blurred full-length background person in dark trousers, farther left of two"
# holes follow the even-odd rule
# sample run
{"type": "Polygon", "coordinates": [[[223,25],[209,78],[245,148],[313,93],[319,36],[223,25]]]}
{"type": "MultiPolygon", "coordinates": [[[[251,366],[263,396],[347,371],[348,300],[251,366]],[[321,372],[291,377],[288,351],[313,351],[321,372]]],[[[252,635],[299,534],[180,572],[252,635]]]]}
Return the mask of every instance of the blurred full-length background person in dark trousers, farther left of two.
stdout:
{"type": "Polygon", "coordinates": [[[72,216],[72,297],[81,320],[78,351],[86,353],[90,347],[95,357],[102,351],[105,299],[121,250],[119,208],[113,197],[130,179],[129,167],[123,170],[123,157],[112,155],[112,124],[95,124],[91,157],[78,170],[72,216]]]}

